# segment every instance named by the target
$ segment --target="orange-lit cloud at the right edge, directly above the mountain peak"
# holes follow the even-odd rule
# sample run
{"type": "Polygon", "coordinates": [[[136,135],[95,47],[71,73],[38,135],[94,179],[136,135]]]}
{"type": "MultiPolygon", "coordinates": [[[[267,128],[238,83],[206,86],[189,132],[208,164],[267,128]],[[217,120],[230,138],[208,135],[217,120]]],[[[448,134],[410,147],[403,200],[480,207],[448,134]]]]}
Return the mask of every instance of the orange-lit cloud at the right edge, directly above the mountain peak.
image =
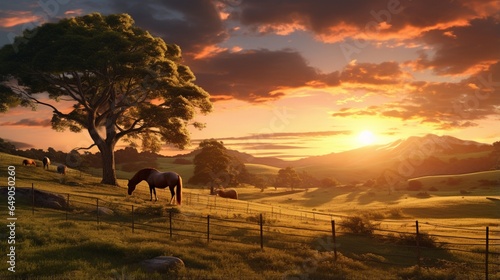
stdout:
{"type": "Polygon", "coordinates": [[[403,121],[418,120],[438,129],[473,127],[480,120],[498,116],[500,63],[457,83],[412,82],[392,101],[366,108],[342,108],[334,117],[378,116],[403,121]]]}

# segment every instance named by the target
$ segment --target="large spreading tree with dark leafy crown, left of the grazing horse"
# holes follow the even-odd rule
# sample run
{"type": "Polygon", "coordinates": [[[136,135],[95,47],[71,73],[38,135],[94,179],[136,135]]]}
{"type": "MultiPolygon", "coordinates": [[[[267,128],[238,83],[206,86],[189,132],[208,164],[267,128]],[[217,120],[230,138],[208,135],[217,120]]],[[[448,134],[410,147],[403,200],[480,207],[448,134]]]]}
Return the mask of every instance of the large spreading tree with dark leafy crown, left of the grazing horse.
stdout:
{"type": "Polygon", "coordinates": [[[203,127],[195,113],[212,109],[180,48],[134,26],[127,14],[94,13],[25,30],[0,50],[0,77],[1,90],[11,90],[0,111],[44,105],[53,110],[54,129],[88,131],[102,155],[105,184],[116,185],[119,140],[139,141],[149,151],[163,143],[184,148],[188,126],[203,127]],[[71,110],[49,102],[47,93],[71,101],[71,110]]]}

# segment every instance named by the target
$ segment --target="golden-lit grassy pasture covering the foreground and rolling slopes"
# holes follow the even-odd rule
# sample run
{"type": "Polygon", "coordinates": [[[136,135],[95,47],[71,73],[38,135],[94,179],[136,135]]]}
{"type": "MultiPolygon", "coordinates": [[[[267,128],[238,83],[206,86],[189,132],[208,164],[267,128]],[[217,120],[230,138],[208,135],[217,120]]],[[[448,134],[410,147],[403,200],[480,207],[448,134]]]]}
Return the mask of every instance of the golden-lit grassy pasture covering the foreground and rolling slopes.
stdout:
{"type": "MultiPolygon", "coordinates": [[[[125,178],[130,176],[129,173],[119,173],[121,187],[110,187],[99,184],[99,178],[87,173],[70,170],[68,175],[61,177],[54,170],[21,166],[21,160],[0,154],[0,166],[5,171],[9,165],[16,167],[18,188],[34,184],[40,190],[99,198],[134,205],[136,209],[168,208],[160,203],[167,201],[170,194],[159,191],[160,202],[153,204],[149,201],[149,190],[144,182],[133,196],[128,196],[125,178]]],[[[192,171],[192,166],[174,165],[167,160],[159,165],[164,170],[179,170],[179,173],[186,174],[186,178],[192,171]]],[[[249,169],[251,172],[275,172],[258,165],[249,166],[249,169]]],[[[394,230],[413,232],[415,220],[420,221],[423,231],[437,232],[440,236],[484,238],[484,228],[489,226],[492,238],[497,240],[492,241],[496,247],[492,245],[491,250],[498,253],[500,187],[480,180],[500,179],[500,172],[456,177],[459,180],[449,179],[449,176],[418,178],[426,191],[431,186],[437,189],[427,191],[429,196],[426,197],[403,189],[388,192],[360,187],[311,188],[308,191],[268,188],[261,192],[247,186],[238,188],[239,201],[217,199],[218,208],[212,208],[215,199],[209,198],[208,190],[185,183],[186,203],[180,207],[181,216],[186,219],[183,223],[188,225],[196,217],[210,214],[214,219],[220,218],[215,223],[226,228],[225,233],[231,236],[231,240],[243,238],[249,240],[248,243],[215,239],[207,243],[203,238],[184,236],[169,238],[165,232],[143,229],[133,233],[130,227],[111,222],[128,221],[129,216],[125,214],[115,215],[109,218],[110,222],[97,225],[91,218],[92,214],[89,214],[89,220],[76,219],[76,213],[84,208],[84,204],[75,204],[74,212],[66,220],[63,210],[37,208],[33,214],[28,201],[18,201],[15,276],[19,279],[484,279],[484,272],[471,269],[467,264],[483,261],[481,254],[474,254],[480,253],[484,247],[474,245],[481,243],[475,239],[458,239],[457,243],[471,243],[472,247],[459,247],[462,250],[422,249],[426,268],[415,266],[414,257],[401,262],[401,257],[398,257],[402,254],[401,248],[389,245],[385,237],[340,233],[336,261],[331,246],[323,246],[329,241],[319,230],[328,231],[329,221],[320,221],[320,214],[327,218],[332,215],[339,223],[343,217],[363,215],[379,224],[377,233],[384,236],[390,236],[394,230]],[[253,212],[247,214],[248,209],[253,212]],[[274,216],[269,215],[271,211],[274,216]],[[231,227],[232,220],[254,223],[251,218],[256,212],[265,212],[270,220],[264,250],[254,244],[253,231],[231,227]],[[290,215],[278,218],[277,213],[290,215]],[[315,220],[311,220],[314,213],[315,220]],[[303,215],[308,215],[308,218],[303,219],[303,215]],[[298,234],[297,230],[285,234],[291,231],[290,228],[304,230],[298,234]],[[455,228],[466,230],[457,233],[455,228]],[[318,229],[318,233],[310,233],[310,229],[318,229]],[[140,269],[140,261],[159,255],[180,257],[186,267],[168,275],[148,274],[140,269]],[[394,262],[400,265],[385,264],[394,262]]],[[[0,186],[6,187],[6,172],[0,173],[0,180],[0,186]]],[[[2,201],[6,203],[7,199],[2,198],[2,201]]],[[[6,220],[7,210],[3,217],[6,220]]],[[[150,215],[141,222],[164,226],[166,218],[150,215]]],[[[5,229],[0,234],[1,239],[7,240],[5,229]]],[[[258,237],[255,237],[255,242],[258,243],[258,237]]],[[[1,248],[3,252],[8,251],[6,242],[1,248]]],[[[403,254],[413,256],[414,253],[403,254]]],[[[499,263],[498,255],[495,256],[491,261],[499,263]]],[[[8,264],[5,261],[0,263],[0,278],[12,277],[14,274],[7,271],[8,264]]],[[[492,266],[490,279],[500,279],[498,265],[492,266]]]]}

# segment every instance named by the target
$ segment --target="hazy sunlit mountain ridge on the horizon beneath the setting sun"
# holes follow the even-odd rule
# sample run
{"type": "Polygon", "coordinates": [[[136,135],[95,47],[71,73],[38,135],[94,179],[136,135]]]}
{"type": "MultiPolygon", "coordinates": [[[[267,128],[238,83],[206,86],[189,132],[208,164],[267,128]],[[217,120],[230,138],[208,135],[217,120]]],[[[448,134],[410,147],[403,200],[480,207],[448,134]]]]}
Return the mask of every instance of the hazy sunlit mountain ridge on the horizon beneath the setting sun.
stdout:
{"type": "MultiPolygon", "coordinates": [[[[343,183],[376,179],[387,171],[395,172],[400,177],[414,178],[485,171],[494,165],[490,157],[492,145],[435,134],[411,136],[385,145],[366,146],[295,161],[228,151],[245,164],[274,168],[291,166],[318,178],[335,178],[343,183]]],[[[196,153],[194,151],[182,157],[192,158],[196,153]]]]}

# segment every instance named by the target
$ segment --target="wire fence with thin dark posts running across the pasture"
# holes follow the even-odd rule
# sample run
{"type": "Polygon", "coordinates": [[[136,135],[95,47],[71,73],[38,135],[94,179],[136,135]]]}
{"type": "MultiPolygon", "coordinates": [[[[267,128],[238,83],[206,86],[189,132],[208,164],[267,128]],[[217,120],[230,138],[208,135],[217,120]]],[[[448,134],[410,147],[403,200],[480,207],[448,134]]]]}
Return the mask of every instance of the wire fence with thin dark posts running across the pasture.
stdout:
{"type": "MultiPolygon", "coordinates": [[[[32,190],[32,194],[35,194],[33,185],[32,190]]],[[[57,211],[64,219],[95,222],[96,225],[118,224],[130,227],[134,233],[143,230],[164,233],[169,238],[255,244],[262,249],[306,244],[319,251],[333,252],[335,259],[338,249],[342,248],[342,252],[350,258],[394,266],[433,265],[439,260],[430,259],[429,256],[435,255],[437,251],[442,254],[467,253],[476,255],[476,260],[484,260],[471,261],[465,265],[476,272],[484,271],[485,279],[490,274],[498,275],[500,271],[500,232],[490,229],[490,226],[470,228],[415,220],[383,220],[372,237],[381,240],[378,242],[380,252],[394,247],[397,248],[394,251],[399,253],[385,253],[381,258],[375,258],[369,254],[356,253],[359,249],[357,246],[348,247],[349,242],[346,240],[354,234],[345,230],[341,222],[345,217],[341,215],[284,209],[189,192],[184,193],[185,209],[198,207],[207,211],[206,215],[184,213],[176,207],[165,209],[160,204],[138,206],[91,196],[59,195],[66,199],[66,205],[62,205],[57,211]],[[113,214],[106,214],[109,210],[113,214]],[[289,226],[284,223],[290,220],[301,221],[307,226],[289,226]],[[404,231],[394,230],[398,228],[404,231]],[[425,238],[432,238],[435,246],[423,244],[425,238]]],[[[37,207],[35,201],[36,197],[32,195],[33,215],[37,207]]],[[[43,210],[53,211],[46,208],[43,210]]],[[[498,225],[493,228],[498,229],[498,225]]]]}

